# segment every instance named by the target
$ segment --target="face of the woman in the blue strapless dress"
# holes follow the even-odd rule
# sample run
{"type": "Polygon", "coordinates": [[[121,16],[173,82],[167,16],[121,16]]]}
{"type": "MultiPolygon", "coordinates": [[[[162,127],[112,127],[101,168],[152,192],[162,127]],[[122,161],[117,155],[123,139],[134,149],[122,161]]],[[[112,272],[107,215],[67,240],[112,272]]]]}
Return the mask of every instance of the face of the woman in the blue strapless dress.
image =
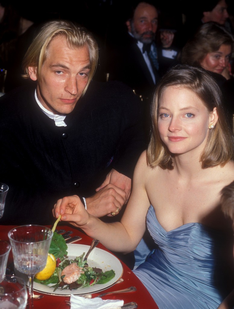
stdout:
{"type": "Polygon", "coordinates": [[[209,112],[190,89],[167,87],[158,108],[161,140],[173,154],[183,154],[194,149],[201,154],[207,142],[208,127],[217,121],[213,113],[217,118],[216,108],[209,112]]]}

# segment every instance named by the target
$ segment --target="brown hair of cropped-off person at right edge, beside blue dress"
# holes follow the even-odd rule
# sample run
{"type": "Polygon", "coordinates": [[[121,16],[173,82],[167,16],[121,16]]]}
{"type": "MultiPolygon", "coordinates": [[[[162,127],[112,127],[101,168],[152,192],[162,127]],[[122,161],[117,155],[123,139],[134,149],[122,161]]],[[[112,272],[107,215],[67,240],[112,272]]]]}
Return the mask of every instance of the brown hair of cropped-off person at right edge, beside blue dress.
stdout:
{"type": "Polygon", "coordinates": [[[234,181],[222,189],[221,205],[224,214],[234,220],[234,181]]]}

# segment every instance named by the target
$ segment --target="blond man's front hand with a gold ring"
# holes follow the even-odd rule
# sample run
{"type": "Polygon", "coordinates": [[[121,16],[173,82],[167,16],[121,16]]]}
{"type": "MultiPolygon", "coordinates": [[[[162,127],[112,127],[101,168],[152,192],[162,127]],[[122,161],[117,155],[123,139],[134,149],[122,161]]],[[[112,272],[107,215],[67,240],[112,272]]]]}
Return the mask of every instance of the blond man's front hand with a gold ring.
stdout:
{"type": "Polygon", "coordinates": [[[111,216],[118,208],[121,210],[126,201],[124,190],[114,184],[107,184],[105,187],[98,188],[98,192],[86,198],[87,211],[94,217],[111,216]]]}

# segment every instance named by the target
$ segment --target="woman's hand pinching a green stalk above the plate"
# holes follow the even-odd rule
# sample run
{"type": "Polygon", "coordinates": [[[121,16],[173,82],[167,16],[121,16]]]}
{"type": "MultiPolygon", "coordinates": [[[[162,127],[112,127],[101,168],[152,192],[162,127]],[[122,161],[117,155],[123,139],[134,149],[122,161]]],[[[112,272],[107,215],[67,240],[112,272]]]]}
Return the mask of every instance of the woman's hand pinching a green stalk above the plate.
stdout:
{"type": "Polygon", "coordinates": [[[62,221],[68,221],[75,226],[84,226],[88,223],[90,214],[85,210],[77,195],[64,197],[54,205],[53,215],[58,218],[61,214],[62,221]]]}

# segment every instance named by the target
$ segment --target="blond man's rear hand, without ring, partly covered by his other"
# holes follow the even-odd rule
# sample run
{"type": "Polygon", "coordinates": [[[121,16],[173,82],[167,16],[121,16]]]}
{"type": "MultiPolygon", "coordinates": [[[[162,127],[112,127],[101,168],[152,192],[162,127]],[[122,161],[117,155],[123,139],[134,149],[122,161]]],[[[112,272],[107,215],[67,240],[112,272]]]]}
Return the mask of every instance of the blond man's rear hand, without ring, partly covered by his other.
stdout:
{"type": "Polygon", "coordinates": [[[107,184],[114,184],[116,187],[125,191],[126,199],[123,205],[126,204],[129,199],[130,193],[131,193],[131,184],[132,184],[131,179],[123,174],[120,174],[116,170],[112,169],[110,173],[107,174],[107,177],[104,180],[104,182],[100,185],[100,187],[96,189],[96,191],[98,192],[100,189],[104,188],[107,184]]]}

